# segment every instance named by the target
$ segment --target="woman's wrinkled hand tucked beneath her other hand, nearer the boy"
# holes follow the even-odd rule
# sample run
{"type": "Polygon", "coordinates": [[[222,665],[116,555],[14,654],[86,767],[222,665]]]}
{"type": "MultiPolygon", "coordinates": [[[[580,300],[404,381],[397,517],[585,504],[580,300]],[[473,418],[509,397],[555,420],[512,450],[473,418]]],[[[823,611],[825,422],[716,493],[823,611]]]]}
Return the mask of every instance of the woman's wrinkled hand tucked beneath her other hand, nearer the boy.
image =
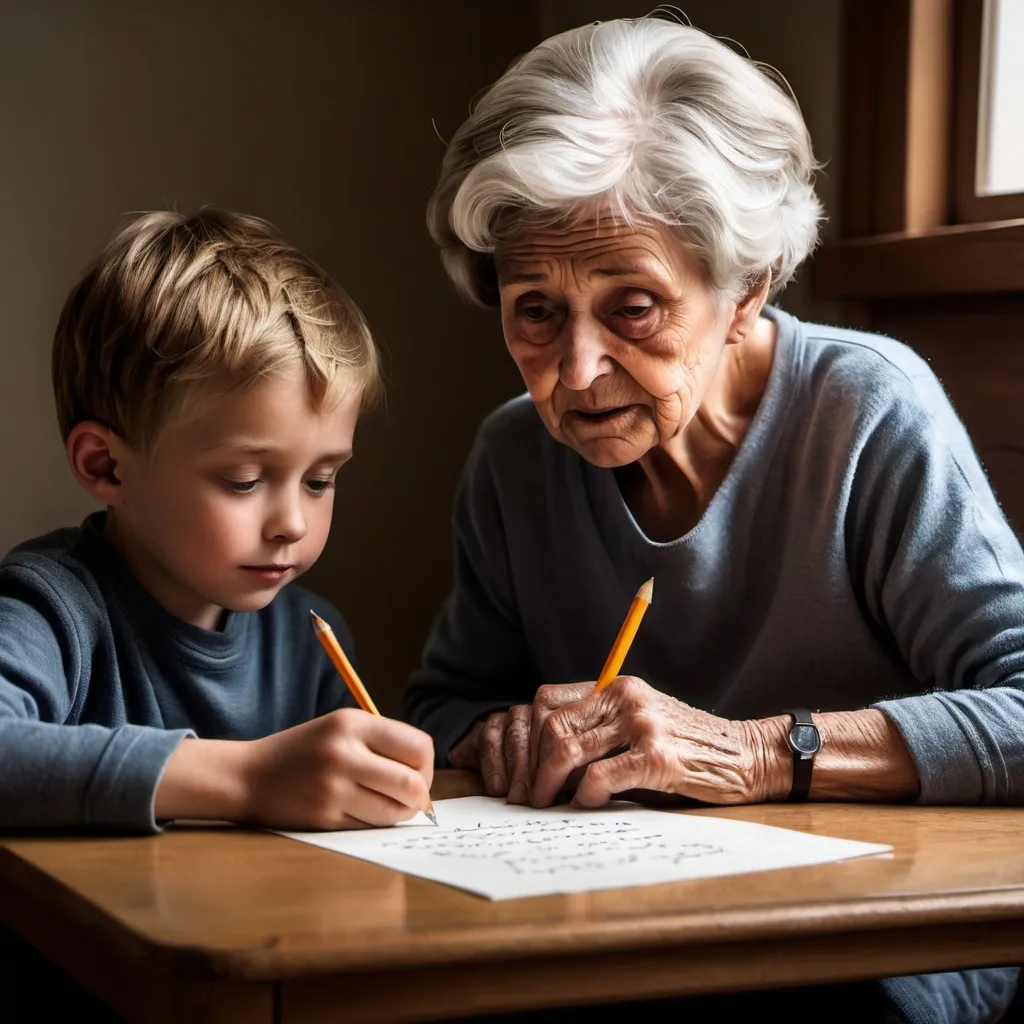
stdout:
{"type": "Polygon", "coordinates": [[[531,705],[516,705],[477,722],[452,748],[449,761],[454,768],[478,770],[492,797],[507,795],[510,804],[525,804],[537,770],[536,737],[550,715],[583,700],[593,689],[593,683],[542,686],[531,705]]]}

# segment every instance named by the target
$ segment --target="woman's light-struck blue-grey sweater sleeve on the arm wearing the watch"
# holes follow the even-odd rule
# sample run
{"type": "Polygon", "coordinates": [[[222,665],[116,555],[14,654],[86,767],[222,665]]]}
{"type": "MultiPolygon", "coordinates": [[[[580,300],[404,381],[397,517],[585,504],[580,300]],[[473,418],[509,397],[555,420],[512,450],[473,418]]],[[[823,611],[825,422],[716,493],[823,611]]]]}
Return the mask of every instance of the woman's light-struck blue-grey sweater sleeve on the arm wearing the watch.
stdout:
{"type": "Polygon", "coordinates": [[[1024,556],[923,375],[879,411],[851,496],[865,610],[922,689],[876,707],[906,741],[922,803],[1024,804],[1024,556]]]}

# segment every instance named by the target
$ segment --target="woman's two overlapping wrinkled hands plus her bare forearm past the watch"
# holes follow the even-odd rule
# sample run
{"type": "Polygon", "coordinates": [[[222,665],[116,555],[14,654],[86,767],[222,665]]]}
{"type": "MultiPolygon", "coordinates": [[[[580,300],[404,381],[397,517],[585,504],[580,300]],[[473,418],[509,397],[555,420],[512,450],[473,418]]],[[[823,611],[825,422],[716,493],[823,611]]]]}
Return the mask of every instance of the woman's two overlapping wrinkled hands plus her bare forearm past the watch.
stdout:
{"type": "MultiPolygon", "coordinates": [[[[512,803],[552,804],[564,790],[599,807],[614,795],[655,794],[711,804],[782,800],[793,784],[787,716],[717,718],[621,676],[542,686],[532,705],[478,722],[452,750],[457,768],[479,768],[487,792],[512,803]],[[511,791],[511,792],[510,792],[511,791]]],[[[913,800],[918,769],[899,730],[876,709],[814,717],[822,746],[815,800],[913,800]]]]}

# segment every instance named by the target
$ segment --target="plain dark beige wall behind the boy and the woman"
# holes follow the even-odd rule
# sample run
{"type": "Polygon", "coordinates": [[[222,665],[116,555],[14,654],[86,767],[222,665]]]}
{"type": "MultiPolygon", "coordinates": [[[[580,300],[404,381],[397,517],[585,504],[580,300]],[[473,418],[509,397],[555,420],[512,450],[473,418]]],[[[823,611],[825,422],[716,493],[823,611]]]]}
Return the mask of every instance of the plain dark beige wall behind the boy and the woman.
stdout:
{"type": "MultiPolygon", "coordinates": [[[[688,5],[790,77],[824,157],[839,3],[688,5]]],[[[260,214],[349,290],[389,353],[387,412],[360,428],[307,580],[348,618],[393,711],[447,588],[472,435],[518,390],[497,321],[456,298],[423,226],[434,123],[450,135],[548,31],[637,12],[610,0],[0,0],[0,550],[89,509],[63,464],[49,344],[117,218],[204,203],[260,214]]]]}

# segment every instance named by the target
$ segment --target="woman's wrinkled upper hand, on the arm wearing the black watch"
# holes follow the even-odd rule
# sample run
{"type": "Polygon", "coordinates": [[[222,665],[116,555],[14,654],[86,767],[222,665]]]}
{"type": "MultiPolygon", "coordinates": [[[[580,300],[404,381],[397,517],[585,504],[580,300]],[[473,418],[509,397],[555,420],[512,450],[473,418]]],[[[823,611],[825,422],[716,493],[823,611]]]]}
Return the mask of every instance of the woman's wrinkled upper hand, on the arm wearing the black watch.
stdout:
{"type": "MultiPolygon", "coordinates": [[[[574,689],[583,687],[589,692],[593,684],[574,689]]],[[[631,790],[751,804],[778,799],[788,787],[784,759],[769,749],[760,723],[697,711],[633,676],[621,676],[588,699],[536,714],[531,725],[535,807],[553,803],[570,773],[584,766],[573,800],[580,807],[600,807],[631,790]],[[628,750],[606,757],[621,748],[628,750]]]]}

